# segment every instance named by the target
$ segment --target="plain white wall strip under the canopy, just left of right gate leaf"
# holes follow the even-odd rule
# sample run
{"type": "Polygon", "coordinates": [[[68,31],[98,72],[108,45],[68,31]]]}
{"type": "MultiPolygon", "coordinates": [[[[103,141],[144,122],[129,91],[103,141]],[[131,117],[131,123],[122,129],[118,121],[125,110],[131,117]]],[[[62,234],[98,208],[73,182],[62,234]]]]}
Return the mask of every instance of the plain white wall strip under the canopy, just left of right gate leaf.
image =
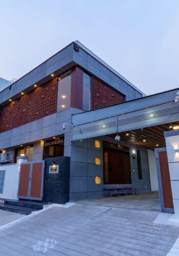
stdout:
{"type": "Polygon", "coordinates": [[[152,150],[148,150],[148,164],[149,164],[151,191],[158,191],[159,183],[158,183],[158,175],[156,170],[155,153],[152,150]]]}

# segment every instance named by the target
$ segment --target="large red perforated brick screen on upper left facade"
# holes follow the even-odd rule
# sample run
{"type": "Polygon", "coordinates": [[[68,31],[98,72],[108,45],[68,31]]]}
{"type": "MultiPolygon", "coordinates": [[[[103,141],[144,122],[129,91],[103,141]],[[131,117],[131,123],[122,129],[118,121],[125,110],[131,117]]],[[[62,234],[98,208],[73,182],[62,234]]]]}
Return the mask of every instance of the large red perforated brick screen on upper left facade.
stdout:
{"type": "Polygon", "coordinates": [[[57,78],[5,105],[2,109],[0,133],[56,112],[57,78]]]}

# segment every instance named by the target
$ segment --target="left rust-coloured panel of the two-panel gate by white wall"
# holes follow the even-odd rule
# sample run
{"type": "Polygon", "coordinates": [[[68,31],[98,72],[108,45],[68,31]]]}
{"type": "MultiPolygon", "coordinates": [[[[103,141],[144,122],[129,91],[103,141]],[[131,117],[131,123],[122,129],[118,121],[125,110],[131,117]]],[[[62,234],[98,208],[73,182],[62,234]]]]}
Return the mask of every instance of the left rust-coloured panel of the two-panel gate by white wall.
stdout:
{"type": "Polygon", "coordinates": [[[20,171],[20,181],[19,181],[19,189],[18,196],[19,197],[27,197],[28,196],[28,188],[29,188],[29,174],[30,174],[30,164],[22,164],[20,171]]]}

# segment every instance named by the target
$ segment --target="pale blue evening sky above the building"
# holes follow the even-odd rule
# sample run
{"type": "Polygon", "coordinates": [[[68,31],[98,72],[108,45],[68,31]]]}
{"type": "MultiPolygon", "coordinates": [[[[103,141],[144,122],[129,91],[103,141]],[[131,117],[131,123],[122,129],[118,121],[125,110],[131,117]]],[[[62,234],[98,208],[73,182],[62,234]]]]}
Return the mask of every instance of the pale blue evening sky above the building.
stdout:
{"type": "Polygon", "coordinates": [[[75,40],[147,95],[179,88],[179,0],[0,0],[0,77],[75,40]]]}

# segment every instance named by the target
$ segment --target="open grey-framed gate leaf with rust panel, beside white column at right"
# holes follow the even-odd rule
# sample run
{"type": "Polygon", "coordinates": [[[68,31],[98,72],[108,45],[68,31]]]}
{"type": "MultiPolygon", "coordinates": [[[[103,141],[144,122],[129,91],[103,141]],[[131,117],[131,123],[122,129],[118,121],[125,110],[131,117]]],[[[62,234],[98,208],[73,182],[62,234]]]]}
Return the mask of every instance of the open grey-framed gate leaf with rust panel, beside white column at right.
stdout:
{"type": "Polygon", "coordinates": [[[155,149],[162,211],[174,213],[166,148],[155,149]]]}

